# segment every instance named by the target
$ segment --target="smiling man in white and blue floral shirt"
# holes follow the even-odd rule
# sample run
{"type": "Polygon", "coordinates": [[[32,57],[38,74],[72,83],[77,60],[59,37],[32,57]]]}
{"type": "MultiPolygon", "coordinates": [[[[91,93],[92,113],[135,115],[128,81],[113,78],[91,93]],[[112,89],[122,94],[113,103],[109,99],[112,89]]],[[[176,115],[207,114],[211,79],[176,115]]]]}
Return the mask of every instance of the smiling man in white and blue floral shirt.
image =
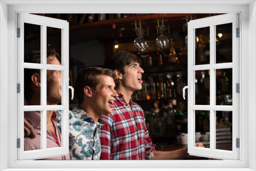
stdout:
{"type": "Polygon", "coordinates": [[[116,100],[115,74],[112,70],[89,67],[76,78],[79,108],[69,115],[69,148],[71,160],[99,160],[101,146],[98,132],[104,122],[102,114],[113,111],[116,100]]]}

